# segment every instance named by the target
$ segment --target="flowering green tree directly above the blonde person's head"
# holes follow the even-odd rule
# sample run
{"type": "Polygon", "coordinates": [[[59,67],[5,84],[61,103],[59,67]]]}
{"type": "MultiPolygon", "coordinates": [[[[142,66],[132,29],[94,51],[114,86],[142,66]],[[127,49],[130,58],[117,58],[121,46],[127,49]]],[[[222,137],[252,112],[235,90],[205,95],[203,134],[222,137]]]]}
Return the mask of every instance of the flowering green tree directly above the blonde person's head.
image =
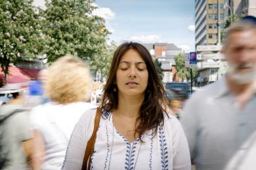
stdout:
{"type": "Polygon", "coordinates": [[[45,54],[49,62],[65,54],[91,62],[104,52],[108,30],[102,18],[92,15],[93,2],[52,0],[46,3],[47,9],[41,10],[41,14],[47,39],[45,54]]]}

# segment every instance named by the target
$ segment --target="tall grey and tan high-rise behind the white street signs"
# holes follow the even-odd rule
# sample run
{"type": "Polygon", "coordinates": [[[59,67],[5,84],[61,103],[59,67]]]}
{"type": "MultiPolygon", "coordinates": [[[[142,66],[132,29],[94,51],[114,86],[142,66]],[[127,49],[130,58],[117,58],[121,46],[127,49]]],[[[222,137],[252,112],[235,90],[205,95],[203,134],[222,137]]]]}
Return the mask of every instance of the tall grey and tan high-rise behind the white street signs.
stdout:
{"type": "MultiPolygon", "coordinates": [[[[219,0],[219,24],[221,30],[224,28],[224,0],[219,0]]],[[[215,45],[218,44],[218,1],[217,0],[195,0],[195,44],[215,45]]],[[[198,72],[200,82],[214,82],[219,76],[219,59],[206,59],[203,54],[212,52],[197,52],[201,55],[198,58],[198,72]]]]}

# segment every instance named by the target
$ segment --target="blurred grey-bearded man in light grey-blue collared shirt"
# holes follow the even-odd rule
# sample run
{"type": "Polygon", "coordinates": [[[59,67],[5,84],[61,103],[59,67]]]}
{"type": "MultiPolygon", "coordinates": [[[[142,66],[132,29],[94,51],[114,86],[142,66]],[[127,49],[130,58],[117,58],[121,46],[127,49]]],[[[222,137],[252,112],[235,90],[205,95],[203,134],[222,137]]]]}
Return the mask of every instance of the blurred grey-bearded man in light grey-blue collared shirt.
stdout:
{"type": "Polygon", "coordinates": [[[241,150],[244,156],[250,151],[246,143],[256,131],[255,24],[231,25],[223,53],[228,73],[194,93],[182,110],[182,126],[198,170],[234,169],[226,167],[228,162],[241,150]]]}

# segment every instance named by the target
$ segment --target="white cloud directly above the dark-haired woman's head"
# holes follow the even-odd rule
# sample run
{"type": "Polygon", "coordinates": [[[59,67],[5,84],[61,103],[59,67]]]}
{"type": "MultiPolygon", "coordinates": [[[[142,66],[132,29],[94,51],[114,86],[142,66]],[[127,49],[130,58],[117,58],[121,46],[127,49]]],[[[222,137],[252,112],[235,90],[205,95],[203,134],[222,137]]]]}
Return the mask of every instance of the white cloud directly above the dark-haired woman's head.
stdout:
{"type": "Polygon", "coordinates": [[[131,36],[127,41],[133,42],[143,42],[143,43],[153,43],[153,42],[163,42],[159,35],[139,35],[131,36]]]}

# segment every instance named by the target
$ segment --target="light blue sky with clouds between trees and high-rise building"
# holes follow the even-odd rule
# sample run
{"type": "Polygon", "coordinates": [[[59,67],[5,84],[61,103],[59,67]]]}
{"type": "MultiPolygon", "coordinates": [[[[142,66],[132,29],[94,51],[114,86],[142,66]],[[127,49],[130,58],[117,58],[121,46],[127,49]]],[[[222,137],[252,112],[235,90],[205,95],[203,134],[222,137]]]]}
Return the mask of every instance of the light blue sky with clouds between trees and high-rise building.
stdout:
{"type": "MultiPolygon", "coordinates": [[[[43,0],[34,4],[43,7],[43,0]]],[[[172,42],[194,51],[193,0],[96,0],[93,14],[112,32],[109,41],[172,42]]]]}

